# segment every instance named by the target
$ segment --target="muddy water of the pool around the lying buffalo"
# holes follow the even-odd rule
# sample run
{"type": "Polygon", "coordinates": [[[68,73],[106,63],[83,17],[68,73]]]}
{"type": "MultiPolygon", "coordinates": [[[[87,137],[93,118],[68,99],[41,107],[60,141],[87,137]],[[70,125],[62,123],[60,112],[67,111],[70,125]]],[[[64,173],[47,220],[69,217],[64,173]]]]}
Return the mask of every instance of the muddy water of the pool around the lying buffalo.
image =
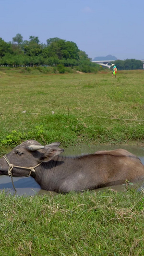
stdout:
{"type": "MultiPolygon", "coordinates": [[[[98,150],[113,150],[117,148],[123,148],[128,151],[130,151],[132,154],[138,156],[142,163],[144,164],[144,148],[137,147],[137,146],[77,146],[77,147],[70,147],[65,149],[64,153],[62,155],[64,156],[75,156],[75,155],[83,155],[87,153],[94,153],[98,150]]],[[[47,195],[55,195],[57,193],[55,192],[49,192],[42,190],[40,186],[36,183],[36,181],[32,177],[13,177],[14,186],[17,190],[16,195],[36,195],[36,194],[47,194],[47,195]]],[[[144,181],[139,182],[138,184],[134,185],[134,188],[136,190],[141,190],[141,187],[144,188],[144,181]]],[[[107,188],[100,188],[96,191],[105,190],[107,188]]],[[[124,191],[125,186],[124,185],[117,185],[112,186],[111,189],[114,189],[116,191],[124,191]]],[[[11,177],[8,176],[0,176],[0,190],[5,190],[6,193],[15,194],[11,182],[11,177]]]]}

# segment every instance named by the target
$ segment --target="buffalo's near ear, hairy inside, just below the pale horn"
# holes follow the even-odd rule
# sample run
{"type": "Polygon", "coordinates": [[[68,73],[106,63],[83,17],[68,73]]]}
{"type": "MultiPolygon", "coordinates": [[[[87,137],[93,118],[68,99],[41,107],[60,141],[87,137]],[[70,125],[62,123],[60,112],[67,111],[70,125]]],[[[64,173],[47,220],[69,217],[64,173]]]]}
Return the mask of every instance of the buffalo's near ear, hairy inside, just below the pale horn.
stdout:
{"type": "Polygon", "coordinates": [[[40,158],[40,161],[42,162],[48,162],[51,159],[53,159],[54,157],[60,155],[60,153],[62,153],[64,151],[63,148],[59,148],[59,147],[50,147],[46,150],[46,152],[44,153],[44,155],[40,158]]]}

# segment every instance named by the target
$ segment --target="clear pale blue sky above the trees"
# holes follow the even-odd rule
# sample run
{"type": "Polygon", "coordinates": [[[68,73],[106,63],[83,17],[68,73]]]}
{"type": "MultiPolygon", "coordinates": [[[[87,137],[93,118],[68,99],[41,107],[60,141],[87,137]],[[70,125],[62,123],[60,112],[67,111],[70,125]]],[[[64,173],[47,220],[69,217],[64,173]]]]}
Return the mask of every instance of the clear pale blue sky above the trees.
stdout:
{"type": "Polygon", "coordinates": [[[0,37],[59,37],[94,59],[144,59],[144,0],[0,0],[0,37]]]}

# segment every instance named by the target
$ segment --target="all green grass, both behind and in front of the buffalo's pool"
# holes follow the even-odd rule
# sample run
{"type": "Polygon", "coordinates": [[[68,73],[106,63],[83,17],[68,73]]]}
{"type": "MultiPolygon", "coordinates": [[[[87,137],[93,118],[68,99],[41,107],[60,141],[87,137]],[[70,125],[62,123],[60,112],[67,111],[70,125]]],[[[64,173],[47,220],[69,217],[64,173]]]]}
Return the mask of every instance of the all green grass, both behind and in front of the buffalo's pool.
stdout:
{"type": "MultiPolygon", "coordinates": [[[[143,70],[112,79],[110,71],[44,74],[1,67],[0,102],[1,156],[26,139],[60,141],[61,147],[144,146],[143,70]]],[[[0,256],[47,255],[144,255],[143,191],[1,193],[0,256]]]]}

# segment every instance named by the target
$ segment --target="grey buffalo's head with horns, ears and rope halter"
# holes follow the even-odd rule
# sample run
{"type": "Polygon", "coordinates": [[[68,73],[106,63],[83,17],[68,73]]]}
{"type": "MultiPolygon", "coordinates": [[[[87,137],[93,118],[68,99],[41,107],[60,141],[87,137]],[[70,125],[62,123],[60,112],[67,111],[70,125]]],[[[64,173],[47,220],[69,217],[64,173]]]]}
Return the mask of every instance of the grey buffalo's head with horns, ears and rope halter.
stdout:
{"type": "Polygon", "coordinates": [[[35,140],[27,140],[16,146],[5,158],[0,158],[0,175],[8,175],[12,167],[13,176],[27,176],[30,172],[27,168],[34,168],[62,153],[64,149],[58,146],[60,146],[59,142],[42,146],[35,140]]]}

